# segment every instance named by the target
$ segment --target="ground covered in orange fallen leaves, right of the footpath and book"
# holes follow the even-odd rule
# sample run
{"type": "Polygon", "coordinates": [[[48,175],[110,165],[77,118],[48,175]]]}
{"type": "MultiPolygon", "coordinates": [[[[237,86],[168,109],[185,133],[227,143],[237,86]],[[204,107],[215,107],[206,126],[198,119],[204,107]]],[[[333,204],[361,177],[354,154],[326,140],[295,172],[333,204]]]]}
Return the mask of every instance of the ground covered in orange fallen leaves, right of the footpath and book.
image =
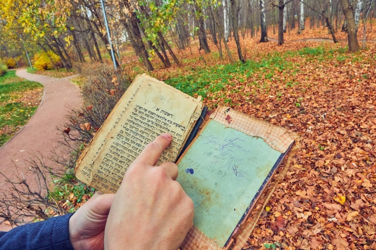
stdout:
{"type": "MultiPolygon", "coordinates": [[[[289,42],[314,37],[331,36],[322,28],[295,30],[283,46],[246,36],[244,65],[229,65],[225,54],[221,61],[214,44],[199,54],[193,42],[177,53],[181,67],[152,72],[204,96],[209,108],[232,106],[300,134],[293,166],[245,249],[376,249],[376,44],[351,54],[346,41],[289,42]]],[[[126,67],[131,76],[143,71],[138,62],[126,67]]]]}

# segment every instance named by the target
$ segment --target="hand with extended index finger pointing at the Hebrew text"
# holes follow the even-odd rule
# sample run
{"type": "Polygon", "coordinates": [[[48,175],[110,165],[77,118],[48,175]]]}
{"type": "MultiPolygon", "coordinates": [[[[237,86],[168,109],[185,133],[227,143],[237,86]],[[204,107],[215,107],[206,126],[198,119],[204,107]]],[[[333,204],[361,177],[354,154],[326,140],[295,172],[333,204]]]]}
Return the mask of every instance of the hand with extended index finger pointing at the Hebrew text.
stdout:
{"type": "Polygon", "coordinates": [[[176,250],[193,225],[194,206],[176,182],[174,163],[154,166],[171,143],[162,134],[129,166],[105,229],[106,249],[176,250]]]}

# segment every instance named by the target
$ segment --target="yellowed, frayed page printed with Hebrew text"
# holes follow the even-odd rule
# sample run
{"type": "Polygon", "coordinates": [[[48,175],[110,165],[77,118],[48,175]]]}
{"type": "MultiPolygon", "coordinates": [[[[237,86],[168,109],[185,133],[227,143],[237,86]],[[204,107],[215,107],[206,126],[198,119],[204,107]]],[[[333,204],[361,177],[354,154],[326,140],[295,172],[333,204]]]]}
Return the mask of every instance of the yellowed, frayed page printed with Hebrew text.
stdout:
{"type": "Polygon", "coordinates": [[[173,141],[157,164],[175,161],[202,102],[148,75],[139,75],[77,161],[78,179],[104,193],[115,193],[130,163],[162,133],[173,141]]]}

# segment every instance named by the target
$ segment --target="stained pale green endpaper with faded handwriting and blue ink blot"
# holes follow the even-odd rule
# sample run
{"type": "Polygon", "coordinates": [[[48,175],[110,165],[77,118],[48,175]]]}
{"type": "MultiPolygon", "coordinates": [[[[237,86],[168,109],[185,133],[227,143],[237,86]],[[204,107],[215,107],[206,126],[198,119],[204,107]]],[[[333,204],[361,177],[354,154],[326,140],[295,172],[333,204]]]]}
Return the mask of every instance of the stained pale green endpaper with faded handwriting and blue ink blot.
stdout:
{"type": "Polygon", "coordinates": [[[223,247],[280,155],[263,139],[210,120],[178,165],[193,224],[223,247]]]}

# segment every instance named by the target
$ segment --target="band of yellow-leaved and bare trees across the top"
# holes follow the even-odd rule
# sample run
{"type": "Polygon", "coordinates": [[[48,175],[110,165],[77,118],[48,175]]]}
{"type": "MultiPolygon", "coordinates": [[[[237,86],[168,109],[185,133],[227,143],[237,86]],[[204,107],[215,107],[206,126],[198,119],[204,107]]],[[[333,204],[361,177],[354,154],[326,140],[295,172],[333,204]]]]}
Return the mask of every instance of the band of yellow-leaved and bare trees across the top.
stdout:
{"type": "Polygon", "coordinates": [[[300,33],[315,26],[327,27],[337,42],[335,33],[344,27],[349,50],[356,51],[356,35],[365,10],[370,18],[376,14],[372,1],[361,0],[109,0],[105,9],[111,44],[100,1],[2,0],[0,58],[23,57],[28,50],[32,54],[52,51],[70,69],[73,61],[103,62],[104,51],[111,55],[111,50],[119,64],[121,51],[131,45],[145,68],[152,71],[152,57],[158,57],[166,68],[180,64],[173,47],[197,46],[203,53],[215,49],[222,57],[224,46],[235,62],[226,44],[235,39],[237,59],[245,62],[239,38],[249,32],[251,37],[267,42],[267,28],[273,27],[275,34],[277,26],[280,45],[284,32],[298,28],[293,32],[300,33]],[[210,48],[210,41],[217,48],[210,48]]]}

